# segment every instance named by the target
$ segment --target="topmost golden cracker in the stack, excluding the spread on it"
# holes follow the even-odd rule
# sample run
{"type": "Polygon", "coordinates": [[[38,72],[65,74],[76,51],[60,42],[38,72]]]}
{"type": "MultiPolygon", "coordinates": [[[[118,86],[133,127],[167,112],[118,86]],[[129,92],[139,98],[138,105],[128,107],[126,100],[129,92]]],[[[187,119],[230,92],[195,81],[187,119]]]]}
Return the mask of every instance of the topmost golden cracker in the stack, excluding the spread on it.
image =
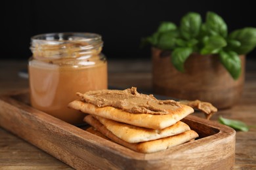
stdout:
{"type": "Polygon", "coordinates": [[[139,127],[151,129],[164,129],[182,118],[194,112],[192,107],[181,105],[179,108],[167,110],[169,114],[145,114],[145,113],[130,113],[125,110],[116,109],[115,107],[96,107],[93,104],[84,101],[75,100],[68,104],[68,107],[76,110],[81,110],[87,114],[94,114],[117,122],[131,124],[139,127]]]}

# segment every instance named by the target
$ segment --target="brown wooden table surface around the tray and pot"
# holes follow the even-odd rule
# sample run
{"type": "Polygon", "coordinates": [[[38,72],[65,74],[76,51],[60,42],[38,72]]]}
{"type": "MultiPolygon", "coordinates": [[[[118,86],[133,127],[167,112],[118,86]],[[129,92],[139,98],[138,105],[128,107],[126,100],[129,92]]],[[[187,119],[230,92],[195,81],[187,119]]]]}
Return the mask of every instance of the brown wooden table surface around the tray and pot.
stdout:
{"type": "MultiPolygon", "coordinates": [[[[0,94],[28,88],[28,79],[18,74],[19,71],[26,69],[26,65],[27,61],[0,60],[0,94]]],[[[152,92],[151,70],[150,59],[109,60],[108,84],[116,88],[136,86],[139,92],[152,92]]],[[[254,126],[247,132],[236,133],[236,163],[233,169],[256,169],[255,59],[247,59],[244,93],[239,103],[230,109],[219,110],[211,120],[217,121],[219,116],[242,120],[247,125],[254,126]]],[[[0,169],[72,169],[72,167],[0,127],[0,169]]]]}

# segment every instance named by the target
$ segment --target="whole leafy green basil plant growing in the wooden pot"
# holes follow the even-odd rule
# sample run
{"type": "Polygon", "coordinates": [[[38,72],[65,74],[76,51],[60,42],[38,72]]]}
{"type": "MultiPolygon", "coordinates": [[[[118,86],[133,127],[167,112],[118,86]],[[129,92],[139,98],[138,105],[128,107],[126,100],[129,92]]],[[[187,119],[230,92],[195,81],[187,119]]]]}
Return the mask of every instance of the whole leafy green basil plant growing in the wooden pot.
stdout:
{"type": "Polygon", "coordinates": [[[170,50],[171,63],[181,72],[193,52],[219,54],[219,61],[236,80],[242,70],[239,55],[251,52],[256,46],[256,28],[245,27],[228,33],[223,18],[214,12],[207,12],[204,23],[200,14],[188,12],[181,18],[179,27],[173,22],[162,22],[155,33],[142,39],[142,46],[146,44],[170,50]]]}

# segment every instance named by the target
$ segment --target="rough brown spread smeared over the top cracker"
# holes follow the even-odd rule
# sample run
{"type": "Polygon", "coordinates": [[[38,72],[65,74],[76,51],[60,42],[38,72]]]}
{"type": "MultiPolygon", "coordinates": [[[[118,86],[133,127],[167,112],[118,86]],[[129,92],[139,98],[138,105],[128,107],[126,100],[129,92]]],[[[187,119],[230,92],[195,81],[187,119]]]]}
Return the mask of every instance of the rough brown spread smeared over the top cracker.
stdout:
{"type": "Polygon", "coordinates": [[[135,87],[126,90],[96,90],[77,95],[81,101],[97,107],[111,106],[131,113],[169,114],[168,110],[181,107],[177,101],[158,100],[152,94],[138,93],[135,87]]]}

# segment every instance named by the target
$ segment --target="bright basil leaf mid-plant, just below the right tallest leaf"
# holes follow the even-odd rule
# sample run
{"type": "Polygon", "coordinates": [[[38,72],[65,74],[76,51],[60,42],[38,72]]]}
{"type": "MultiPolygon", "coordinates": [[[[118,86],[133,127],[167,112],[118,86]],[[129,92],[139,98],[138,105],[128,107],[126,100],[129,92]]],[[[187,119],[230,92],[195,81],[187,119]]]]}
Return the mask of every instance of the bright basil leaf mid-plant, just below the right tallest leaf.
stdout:
{"type": "Polygon", "coordinates": [[[226,46],[226,41],[220,35],[213,35],[211,37],[204,37],[203,39],[204,46],[200,50],[201,54],[216,54],[221,48],[226,46]]]}

